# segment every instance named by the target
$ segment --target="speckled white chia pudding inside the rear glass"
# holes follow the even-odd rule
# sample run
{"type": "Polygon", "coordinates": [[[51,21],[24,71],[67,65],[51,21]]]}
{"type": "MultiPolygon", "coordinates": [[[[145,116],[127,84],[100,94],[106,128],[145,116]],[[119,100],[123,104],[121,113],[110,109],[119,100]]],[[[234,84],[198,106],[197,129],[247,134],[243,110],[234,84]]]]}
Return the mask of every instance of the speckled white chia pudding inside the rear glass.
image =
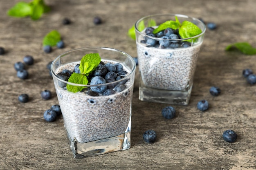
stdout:
{"type": "Polygon", "coordinates": [[[159,49],[137,42],[139,71],[151,88],[181,91],[193,75],[202,43],[187,48],[159,49]]]}

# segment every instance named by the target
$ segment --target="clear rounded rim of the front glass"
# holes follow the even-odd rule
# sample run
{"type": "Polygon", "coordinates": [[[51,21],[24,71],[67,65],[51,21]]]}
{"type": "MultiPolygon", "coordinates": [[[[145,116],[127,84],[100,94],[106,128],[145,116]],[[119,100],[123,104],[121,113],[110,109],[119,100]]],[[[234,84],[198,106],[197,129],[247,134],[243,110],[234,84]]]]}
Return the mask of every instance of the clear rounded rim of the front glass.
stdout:
{"type": "MultiPolygon", "coordinates": [[[[83,56],[82,56],[83,57],[83,56]]],[[[82,58],[81,57],[81,58],[82,58]]],[[[70,84],[72,86],[81,86],[81,87],[95,87],[95,86],[109,86],[111,84],[117,84],[119,82],[122,82],[124,80],[126,80],[127,78],[130,78],[131,75],[135,72],[136,70],[136,63],[135,61],[133,60],[133,58],[126,52],[124,51],[121,51],[121,50],[118,50],[118,49],[114,49],[114,48],[110,48],[110,47],[101,47],[101,46],[93,46],[93,47],[83,47],[83,48],[79,48],[79,49],[72,49],[70,51],[66,51],[64,53],[61,53],[60,55],[58,55],[53,61],[52,61],[52,64],[51,64],[51,73],[52,73],[52,76],[54,78],[56,78],[58,81],[60,82],[63,82],[63,83],[66,83],[66,84],[70,84]],[[60,79],[53,71],[53,66],[54,66],[54,63],[56,63],[56,61],[58,59],[60,59],[61,57],[64,57],[65,55],[68,55],[70,53],[73,53],[73,52],[77,52],[77,51],[84,51],[84,50],[108,50],[108,51],[115,51],[115,52],[119,52],[119,53],[122,53],[123,55],[125,55],[126,57],[128,57],[131,62],[133,63],[133,66],[132,66],[132,69],[130,71],[130,73],[128,73],[124,78],[121,78],[115,82],[110,82],[110,83],[105,83],[105,84],[96,84],[96,85],[90,85],[90,84],[76,84],[76,83],[71,83],[71,82],[67,82],[63,79],[60,79]]]]}

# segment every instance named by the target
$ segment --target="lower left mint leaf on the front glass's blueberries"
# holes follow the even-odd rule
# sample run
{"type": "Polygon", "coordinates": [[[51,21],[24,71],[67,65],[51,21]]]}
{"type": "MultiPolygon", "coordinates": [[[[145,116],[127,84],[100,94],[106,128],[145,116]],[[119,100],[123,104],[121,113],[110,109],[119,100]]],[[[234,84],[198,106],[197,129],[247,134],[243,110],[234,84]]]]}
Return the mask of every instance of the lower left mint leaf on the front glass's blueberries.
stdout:
{"type": "MultiPolygon", "coordinates": [[[[70,78],[68,79],[68,82],[76,83],[76,84],[88,84],[88,79],[85,75],[80,73],[72,73],[70,78]]],[[[73,86],[70,84],[67,84],[67,91],[76,93],[79,91],[82,91],[84,88],[83,86],[73,86]]]]}

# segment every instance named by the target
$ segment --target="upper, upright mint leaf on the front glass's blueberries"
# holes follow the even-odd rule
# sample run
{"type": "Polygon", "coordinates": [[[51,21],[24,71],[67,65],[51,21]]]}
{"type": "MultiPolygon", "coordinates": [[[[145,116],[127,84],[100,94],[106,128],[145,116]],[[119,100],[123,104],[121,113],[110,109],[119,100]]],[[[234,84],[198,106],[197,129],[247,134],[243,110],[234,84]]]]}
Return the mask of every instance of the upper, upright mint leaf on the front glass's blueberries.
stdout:
{"type": "Polygon", "coordinates": [[[81,74],[89,75],[101,62],[99,53],[90,53],[83,56],[80,62],[79,70],[81,74]]]}

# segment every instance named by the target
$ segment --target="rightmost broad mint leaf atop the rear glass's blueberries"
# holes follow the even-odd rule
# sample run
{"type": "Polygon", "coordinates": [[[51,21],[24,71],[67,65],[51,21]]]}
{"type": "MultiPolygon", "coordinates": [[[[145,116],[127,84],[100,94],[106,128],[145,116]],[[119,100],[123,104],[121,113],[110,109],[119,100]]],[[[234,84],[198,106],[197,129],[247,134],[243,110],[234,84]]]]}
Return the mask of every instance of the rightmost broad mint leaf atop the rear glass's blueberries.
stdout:
{"type": "Polygon", "coordinates": [[[179,29],[179,34],[182,38],[190,38],[200,33],[202,33],[202,30],[194,23],[189,21],[183,21],[179,29]]]}

